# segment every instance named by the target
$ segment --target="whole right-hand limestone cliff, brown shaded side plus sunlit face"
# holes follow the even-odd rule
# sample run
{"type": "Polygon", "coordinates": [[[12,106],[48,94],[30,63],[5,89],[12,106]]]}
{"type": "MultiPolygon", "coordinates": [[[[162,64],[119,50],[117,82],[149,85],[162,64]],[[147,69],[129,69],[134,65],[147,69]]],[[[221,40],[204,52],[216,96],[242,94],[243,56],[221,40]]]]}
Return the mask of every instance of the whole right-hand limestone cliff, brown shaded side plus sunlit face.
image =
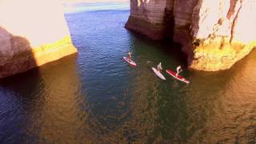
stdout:
{"type": "Polygon", "coordinates": [[[166,30],[172,29],[174,41],[182,44],[182,51],[193,69],[229,69],[256,46],[254,0],[130,2],[131,14],[126,27],[150,38],[164,38],[166,30]],[[174,26],[167,26],[166,19],[173,19],[174,26]],[[155,30],[161,32],[151,32],[155,30]]]}

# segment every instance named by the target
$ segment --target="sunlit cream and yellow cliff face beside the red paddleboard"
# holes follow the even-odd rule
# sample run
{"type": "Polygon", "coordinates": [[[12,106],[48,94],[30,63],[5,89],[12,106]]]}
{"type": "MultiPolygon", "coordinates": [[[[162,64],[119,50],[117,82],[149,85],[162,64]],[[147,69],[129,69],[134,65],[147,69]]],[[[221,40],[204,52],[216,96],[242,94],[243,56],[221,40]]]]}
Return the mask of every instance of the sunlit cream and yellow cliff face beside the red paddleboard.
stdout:
{"type": "Polygon", "coordinates": [[[194,58],[190,67],[225,70],[249,54],[256,46],[255,6],[254,0],[199,0],[191,23],[194,51],[190,57],[194,58]]]}

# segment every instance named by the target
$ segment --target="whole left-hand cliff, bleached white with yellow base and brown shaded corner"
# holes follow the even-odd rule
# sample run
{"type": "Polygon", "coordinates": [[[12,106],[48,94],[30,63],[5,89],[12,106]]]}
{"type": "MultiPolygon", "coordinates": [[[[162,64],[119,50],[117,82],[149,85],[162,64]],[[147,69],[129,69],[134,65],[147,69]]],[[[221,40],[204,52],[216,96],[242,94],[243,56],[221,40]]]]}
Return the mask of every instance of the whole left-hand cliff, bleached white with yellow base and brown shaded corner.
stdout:
{"type": "Polygon", "coordinates": [[[61,2],[0,1],[0,78],[76,52],[61,2]]]}

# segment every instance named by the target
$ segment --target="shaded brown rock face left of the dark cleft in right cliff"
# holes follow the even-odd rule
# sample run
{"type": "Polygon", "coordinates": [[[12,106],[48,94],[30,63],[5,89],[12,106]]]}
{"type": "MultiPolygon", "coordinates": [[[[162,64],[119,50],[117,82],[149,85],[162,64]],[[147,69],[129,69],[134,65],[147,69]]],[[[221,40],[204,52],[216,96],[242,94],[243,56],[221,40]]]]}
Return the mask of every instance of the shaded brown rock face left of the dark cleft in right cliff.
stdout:
{"type": "Polygon", "coordinates": [[[126,28],[152,39],[164,38],[169,32],[167,26],[172,25],[173,5],[174,1],[170,0],[130,0],[130,18],[126,28]]]}

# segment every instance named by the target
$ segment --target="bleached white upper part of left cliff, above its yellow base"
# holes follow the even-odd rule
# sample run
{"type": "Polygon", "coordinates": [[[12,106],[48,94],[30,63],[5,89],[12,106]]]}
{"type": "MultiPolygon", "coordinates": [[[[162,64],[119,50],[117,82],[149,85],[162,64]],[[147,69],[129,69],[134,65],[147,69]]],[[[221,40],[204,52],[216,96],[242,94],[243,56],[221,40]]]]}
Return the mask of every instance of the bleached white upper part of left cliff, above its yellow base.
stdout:
{"type": "Polygon", "coordinates": [[[10,34],[28,39],[32,47],[56,42],[70,35],[58,0],[2,0],[0,26],[10,34]]]}

